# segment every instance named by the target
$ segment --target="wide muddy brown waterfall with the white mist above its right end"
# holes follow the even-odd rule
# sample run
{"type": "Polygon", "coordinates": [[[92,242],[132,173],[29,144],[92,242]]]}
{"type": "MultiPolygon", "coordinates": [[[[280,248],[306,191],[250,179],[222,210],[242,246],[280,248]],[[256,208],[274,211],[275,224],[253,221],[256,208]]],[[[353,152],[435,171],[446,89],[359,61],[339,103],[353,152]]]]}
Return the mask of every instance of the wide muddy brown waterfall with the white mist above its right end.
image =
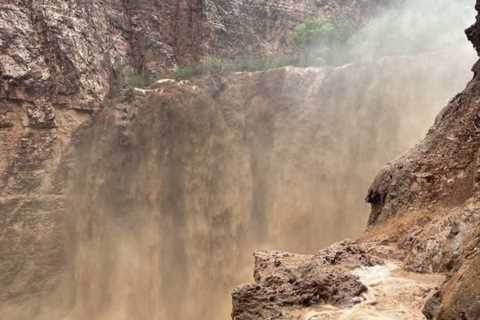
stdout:
{"type": "Polygon", "coordinates": [[[114,101],[65,156],[68,265],[36,318],[227,319],[253,250],[358,236],[375,173],[470,79],[472,9],[406,1],[336,53],[345,64],[114,101]]]}

